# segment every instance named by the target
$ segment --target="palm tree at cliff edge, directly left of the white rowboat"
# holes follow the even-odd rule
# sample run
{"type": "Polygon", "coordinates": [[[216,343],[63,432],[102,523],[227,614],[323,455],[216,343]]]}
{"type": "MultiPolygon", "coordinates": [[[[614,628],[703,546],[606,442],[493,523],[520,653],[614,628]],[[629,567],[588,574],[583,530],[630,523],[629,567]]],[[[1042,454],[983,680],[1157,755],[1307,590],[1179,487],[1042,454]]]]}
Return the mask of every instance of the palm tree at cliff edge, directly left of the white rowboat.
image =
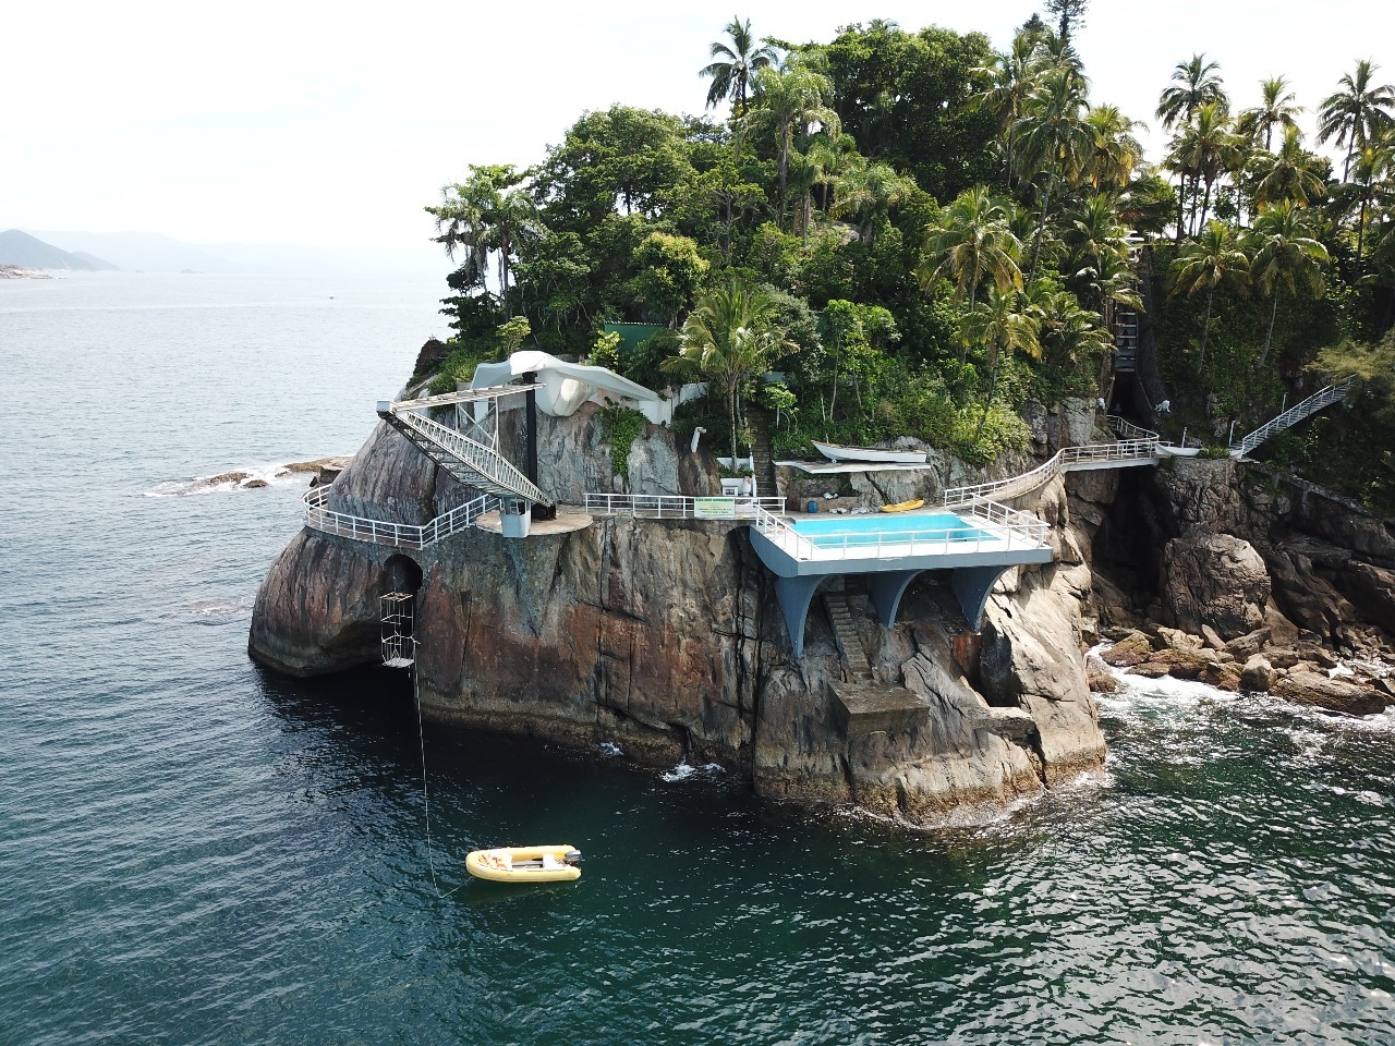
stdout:
{"type": "Polygon", "coordinates": [[[770,296],[732,279],[698,297],[679,331],[679,350],[664,361],[668,371],[706,374],[720,381],[727,395],[731,423],[731,460],[737,460],[737,417],[741,414],[741,386],[760,374],[781,351],[794,349],[771,325],[774,301],[770,296]]]}

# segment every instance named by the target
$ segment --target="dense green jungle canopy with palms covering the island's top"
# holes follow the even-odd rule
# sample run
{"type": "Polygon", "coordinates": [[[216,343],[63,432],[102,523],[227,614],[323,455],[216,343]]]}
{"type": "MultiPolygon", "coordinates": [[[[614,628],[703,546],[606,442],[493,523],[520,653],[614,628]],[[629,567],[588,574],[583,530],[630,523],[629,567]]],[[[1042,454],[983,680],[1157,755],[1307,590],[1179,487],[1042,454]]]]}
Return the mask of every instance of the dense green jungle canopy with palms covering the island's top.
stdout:
{"type": "Polygon", "coordinates": [[[1027,400],[1113,403],[1112,325],[1147,308],[1154,395],[1123,413],[1225,445],[1360,374],[1353,410],[1264,453],[1395,508],[1395,88],[1357,61],[1297,99],[1184,57],[1149,165],[1070,43],[1085,1],[1046,7],[1004,52],[884,21],[795,45],[738,18],[693,79],[725,119],[614,106],[534,167],[472,166],[428,208],[459,262],[435,388],[527,344],[709,379],[725,400],[678,424],[723,446],[756,416],[778,452],[914,437],[985,463],[1025,445],[1027,400]]]}

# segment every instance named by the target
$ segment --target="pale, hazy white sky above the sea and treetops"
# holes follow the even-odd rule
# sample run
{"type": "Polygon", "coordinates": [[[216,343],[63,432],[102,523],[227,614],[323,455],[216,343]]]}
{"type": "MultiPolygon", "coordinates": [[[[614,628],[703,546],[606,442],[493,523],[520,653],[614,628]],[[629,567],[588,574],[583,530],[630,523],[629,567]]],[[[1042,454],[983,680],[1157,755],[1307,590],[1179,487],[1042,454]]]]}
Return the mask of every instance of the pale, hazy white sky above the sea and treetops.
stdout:
{"type": "MultiPolygon", "coordinates": [[[[887,18],[1003,47],[1038,8],[762,0],[737,11],[788,40],[887,18]]],[[[0,229],[424,255],[439,248],[423,206],[469,163],[536,162],[583,110],[612,103],[700,112],[696,73],[723,11],[681,0],[11,4],[0,229]]],[[[1395,4],[1094,0],[1077,49],[1092,100],[1136,120],[1152,120],[1173,67],[1197,52],[1221,63],[1236,107],[1285,74],[1314,109],[1357,59],[1395,81],[1395,4]]],[[[1159,135],[1140,137],[1161,152],[1159,135]]]]}

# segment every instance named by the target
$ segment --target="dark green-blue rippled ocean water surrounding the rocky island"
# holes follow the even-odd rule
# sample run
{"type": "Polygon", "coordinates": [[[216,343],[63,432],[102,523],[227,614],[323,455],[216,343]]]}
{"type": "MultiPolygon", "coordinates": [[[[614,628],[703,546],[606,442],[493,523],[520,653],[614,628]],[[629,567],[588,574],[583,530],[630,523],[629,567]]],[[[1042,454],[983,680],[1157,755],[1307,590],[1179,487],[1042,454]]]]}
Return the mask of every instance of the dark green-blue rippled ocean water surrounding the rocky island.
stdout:
{"type": "Polygon", "coordinates": [[[911,831],[257,668],[303,480],[180,491],[356,449],[439,290],[0,282],[0,1043],[1395,1042],[1391,713],[1144,681],[911,831]],[[465,873],[534,841],[580,881],[465,873]]]}

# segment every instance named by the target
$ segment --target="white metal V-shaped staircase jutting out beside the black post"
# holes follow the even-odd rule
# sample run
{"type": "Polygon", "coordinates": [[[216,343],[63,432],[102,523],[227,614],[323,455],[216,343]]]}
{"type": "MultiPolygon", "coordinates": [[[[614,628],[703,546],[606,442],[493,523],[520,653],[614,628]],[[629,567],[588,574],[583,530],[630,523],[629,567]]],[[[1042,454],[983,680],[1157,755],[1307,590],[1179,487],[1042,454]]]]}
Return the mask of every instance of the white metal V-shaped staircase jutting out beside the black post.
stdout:
{"type": "Polygon", "coordinates": [[[494,494],[499,498],[515,498],[534,505],[551,505],[552,501],[498,450],[495,432],[494,446],[458,432],[439,421],[432,421],[424,413],[434,407],[459,406],[462,403],[498,400],[527,392],[536,385],[498,385],[488,389],[452,392],[444,396],[403,400],[399,403],[381,400],[378,417],[410,439],[421,453],[445,469],[463,484],[494,494]]]}

